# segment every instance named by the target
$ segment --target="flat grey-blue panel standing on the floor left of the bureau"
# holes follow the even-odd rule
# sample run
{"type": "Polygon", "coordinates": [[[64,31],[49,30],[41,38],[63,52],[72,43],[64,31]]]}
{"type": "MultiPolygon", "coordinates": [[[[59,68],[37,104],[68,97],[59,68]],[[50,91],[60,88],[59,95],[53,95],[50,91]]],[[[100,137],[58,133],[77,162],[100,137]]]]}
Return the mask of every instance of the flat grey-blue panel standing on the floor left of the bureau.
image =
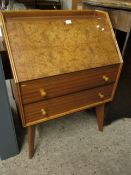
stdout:
{"type": "Polygon", "coordinates": [[[0,158],[7,159],[18,153],[19,149],[0,57],[0,158]]]}

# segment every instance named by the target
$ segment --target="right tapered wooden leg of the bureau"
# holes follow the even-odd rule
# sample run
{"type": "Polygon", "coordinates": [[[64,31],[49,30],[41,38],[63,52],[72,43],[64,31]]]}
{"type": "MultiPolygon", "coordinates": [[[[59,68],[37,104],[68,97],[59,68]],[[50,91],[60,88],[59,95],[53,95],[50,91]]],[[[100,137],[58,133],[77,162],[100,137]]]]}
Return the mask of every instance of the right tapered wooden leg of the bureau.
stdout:
{"type": "Polygon", "coordinates": [[[98,124],[99,131],[103,131],[104,104],[96,107],[96,115],[97,115],[97,124],[98,124]]]}

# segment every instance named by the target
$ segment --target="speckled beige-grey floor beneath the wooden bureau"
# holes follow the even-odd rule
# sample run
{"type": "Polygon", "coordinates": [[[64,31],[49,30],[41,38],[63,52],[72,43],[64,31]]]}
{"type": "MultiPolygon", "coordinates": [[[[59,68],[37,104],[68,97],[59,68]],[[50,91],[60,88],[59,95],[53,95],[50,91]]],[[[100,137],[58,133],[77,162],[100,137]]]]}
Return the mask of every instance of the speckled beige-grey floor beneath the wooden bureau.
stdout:
{"type": "Polygon", "coordinates": [[[26,133],[20,154],[0,162],[0,175],[131,175],[131,119],[104,132],[90,111],[41,124],[33,159],[26,133]]]}

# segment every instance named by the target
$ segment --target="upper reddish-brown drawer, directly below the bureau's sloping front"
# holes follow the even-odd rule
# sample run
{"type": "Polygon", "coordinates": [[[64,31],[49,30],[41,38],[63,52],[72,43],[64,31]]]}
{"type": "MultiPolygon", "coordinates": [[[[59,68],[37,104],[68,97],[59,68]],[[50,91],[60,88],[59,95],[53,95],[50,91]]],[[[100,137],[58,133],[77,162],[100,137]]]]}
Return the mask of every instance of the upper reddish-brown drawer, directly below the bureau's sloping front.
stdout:
{"type": "Polygon", "coordinates": [[[20,84],[23,104],[41,101],[113,83],[118,65],[47,77],[20,84]]]}

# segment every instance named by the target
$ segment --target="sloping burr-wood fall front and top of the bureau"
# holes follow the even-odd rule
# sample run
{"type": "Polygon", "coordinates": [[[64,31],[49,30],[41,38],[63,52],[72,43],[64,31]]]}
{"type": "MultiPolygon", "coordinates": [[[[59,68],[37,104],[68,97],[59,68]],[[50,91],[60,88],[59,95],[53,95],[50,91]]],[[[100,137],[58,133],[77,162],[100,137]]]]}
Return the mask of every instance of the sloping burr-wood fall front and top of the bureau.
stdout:
{"type": "Polygon", "coordinates": [[[107,13],[2,12],[16,82],[122,62],[107,13]]]}

